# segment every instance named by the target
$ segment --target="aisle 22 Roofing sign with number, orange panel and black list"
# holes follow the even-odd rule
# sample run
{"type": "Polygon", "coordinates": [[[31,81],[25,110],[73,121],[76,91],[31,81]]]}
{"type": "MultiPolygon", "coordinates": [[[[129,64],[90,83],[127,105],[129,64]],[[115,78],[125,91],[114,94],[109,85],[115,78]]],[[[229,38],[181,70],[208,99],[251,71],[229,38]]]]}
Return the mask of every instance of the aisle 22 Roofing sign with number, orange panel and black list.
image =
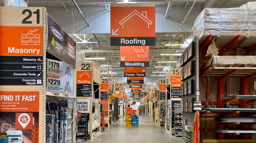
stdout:
{"type": "Polygon", "coordinates": [[[92,63],[76,63],[76,96],[92,96],[92,63]]]}

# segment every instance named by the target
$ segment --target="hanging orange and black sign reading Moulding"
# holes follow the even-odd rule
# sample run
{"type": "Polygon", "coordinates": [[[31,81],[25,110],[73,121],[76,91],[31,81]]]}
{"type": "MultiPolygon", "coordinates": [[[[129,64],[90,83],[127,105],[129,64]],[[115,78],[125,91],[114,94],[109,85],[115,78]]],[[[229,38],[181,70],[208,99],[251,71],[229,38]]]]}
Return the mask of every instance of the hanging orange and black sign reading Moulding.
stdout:
{"type": "Polygon", "coordinates": [[[120,46],[120,67],[149,67],[149,46],[120,46]]]}

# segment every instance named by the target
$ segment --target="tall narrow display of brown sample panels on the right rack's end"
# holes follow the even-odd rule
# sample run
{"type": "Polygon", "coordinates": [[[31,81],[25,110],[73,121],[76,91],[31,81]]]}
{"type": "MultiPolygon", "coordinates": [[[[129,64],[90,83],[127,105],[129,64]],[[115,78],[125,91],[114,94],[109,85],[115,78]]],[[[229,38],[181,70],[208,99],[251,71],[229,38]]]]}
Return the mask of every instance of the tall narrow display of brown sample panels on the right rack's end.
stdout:
{"type": "MultiPolygon", "coordinates": [[[[182,141],[188,142],[185,138],[185,127],[193,128],[195,112],[193,100],[199,102],[199,39],[196,36],[181,55],[181,111],[182,111],[182,141]]],[[[194,128],[193,128],[194,129],[194,128]]],[[[198,136],[190,130],[190,140],[193,136],[198,136]]],[[[193,142],[193,141],[192,141],[193,142]]]]}

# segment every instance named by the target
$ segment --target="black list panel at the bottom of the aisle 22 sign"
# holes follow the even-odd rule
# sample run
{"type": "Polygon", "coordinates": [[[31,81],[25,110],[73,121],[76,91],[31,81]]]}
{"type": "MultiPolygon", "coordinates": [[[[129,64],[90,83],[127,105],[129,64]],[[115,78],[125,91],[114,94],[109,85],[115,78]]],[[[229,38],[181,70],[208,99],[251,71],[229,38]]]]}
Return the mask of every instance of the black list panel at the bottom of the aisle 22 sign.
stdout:
{"type": "Polygon", "coordinates": [[[92,84],[76,84],[76,96],[92,96],[92,84]]]}

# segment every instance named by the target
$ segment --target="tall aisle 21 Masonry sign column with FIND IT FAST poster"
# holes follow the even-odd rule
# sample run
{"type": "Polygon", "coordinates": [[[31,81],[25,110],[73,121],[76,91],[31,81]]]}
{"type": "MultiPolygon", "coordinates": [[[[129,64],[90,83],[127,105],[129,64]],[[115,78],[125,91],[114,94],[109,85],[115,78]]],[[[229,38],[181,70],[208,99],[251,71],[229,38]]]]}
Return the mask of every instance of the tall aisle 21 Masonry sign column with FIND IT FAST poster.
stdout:
{"type": "Polygon", "coordinates": [[[0,122],[1,132],[12,134],[13,142],[45,141],[41,108],[46,66],[44,10],[0,7],[0,122]]]}

